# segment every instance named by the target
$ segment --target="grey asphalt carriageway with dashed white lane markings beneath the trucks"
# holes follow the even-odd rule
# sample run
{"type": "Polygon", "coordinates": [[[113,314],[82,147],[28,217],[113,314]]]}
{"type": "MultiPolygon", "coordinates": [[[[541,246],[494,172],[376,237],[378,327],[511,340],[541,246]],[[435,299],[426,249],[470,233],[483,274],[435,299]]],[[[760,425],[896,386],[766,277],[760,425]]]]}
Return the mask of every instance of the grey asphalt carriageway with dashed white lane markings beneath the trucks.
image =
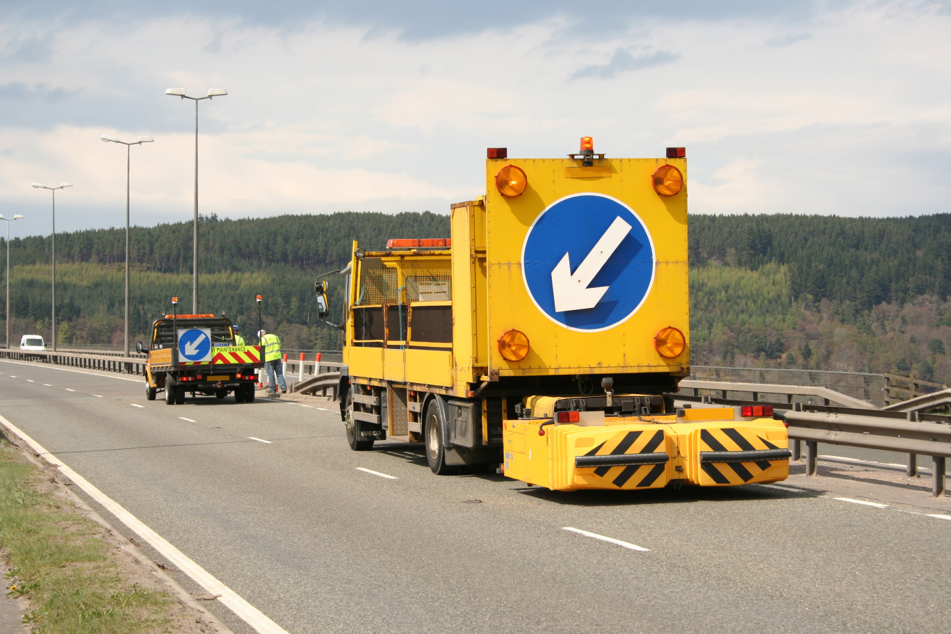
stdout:
{"type": "Polygon", "coordinates": [[[168,406],[130,378],[0,361],[0,414],[292,634],[951,623],[948,511],[788,483],[565,493],[437,477],[416,445],[350,451],[318,399],[168,406]]]}

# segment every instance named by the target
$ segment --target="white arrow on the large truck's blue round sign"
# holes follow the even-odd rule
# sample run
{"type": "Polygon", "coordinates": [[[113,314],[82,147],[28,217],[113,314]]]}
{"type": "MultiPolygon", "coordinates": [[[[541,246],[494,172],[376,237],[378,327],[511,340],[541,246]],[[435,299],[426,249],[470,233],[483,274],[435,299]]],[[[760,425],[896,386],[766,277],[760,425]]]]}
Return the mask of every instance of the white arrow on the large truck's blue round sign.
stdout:
{"type": "Polygon", "coordinates": [[[569,254],[565,254],[565,257],[552,270],[555,312],[562,313],[594,308],[597,302],[601,301],[601,298],[608,291],[608,287],[589,288],[589,285],[630,231],[631,224],[621,217],[615,218],[584,261],[574,270],[574,273],[572,273],[572,264],[568,258],[569,254]]]}

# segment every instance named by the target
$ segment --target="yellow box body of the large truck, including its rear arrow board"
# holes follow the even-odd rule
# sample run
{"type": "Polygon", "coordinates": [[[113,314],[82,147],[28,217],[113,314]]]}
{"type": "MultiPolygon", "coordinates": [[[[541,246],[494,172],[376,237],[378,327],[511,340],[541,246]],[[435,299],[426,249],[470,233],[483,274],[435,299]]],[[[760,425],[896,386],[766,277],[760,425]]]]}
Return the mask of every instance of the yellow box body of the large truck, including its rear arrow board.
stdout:
{"type": "Polygon", "coordinates": [[[689,341],[686,185],[671,197],[658,195],[651,185],[651,175],[664,164],[678,167],[686,177],[686,160],[593,163],[487,160],[486,195],[453,205],[451,250],[394,250],[355,258],[344,347],[351,375],[430,386],[456,396],[484,381],[504,383],[508,377],[686,375],[689,343],[675,358],[659,355],[654,347],[654,336],[668,326],[689,341]],[[523,170],[528,179],[518,197],[504,197],[495,186],[496,174],[507,165],[523,170]],[[574,213],[543,226],[554,218],[549,210],[581,201],[605,202],[609,208],[599,218],[574,213]],[[599,237],[613,228],[614,217],[631,226],[627,241],[594,268],[598,275],[615,277],[578,284],[582,289],[608,287],[615,297],[593,310],[546,310],[535,296],[551,295],[563,286],[551,278],[559,259],[568,257],[569,270],[577,270],[599,237]],[[555,244],[552,249],[545,248],[548,241],[555,244]],[[531,255],[533,244],[546,252],[531,255]],[[617,264],[625,258],[645,259],[637,264],[645,275],[630,275],[634,264],[628,269],[617,264]],[[629,301],[626,285],[636,285],[635,295],[643,298],[629,301]],[[583,321],[602,306],[625,301],[630,305],[620,313],[591,317],[593,322],[581,328],[557,321],[569,314],[583,321]],[[432,336],[416,327],[421,322],[417,316],[440,310],[451,324],[451,336],[427,340],[432,336]],[[519,361],[506,360],[498,349],[499,337],[510,330],[521,331],[530,341],[528,355],[519,361]]]}

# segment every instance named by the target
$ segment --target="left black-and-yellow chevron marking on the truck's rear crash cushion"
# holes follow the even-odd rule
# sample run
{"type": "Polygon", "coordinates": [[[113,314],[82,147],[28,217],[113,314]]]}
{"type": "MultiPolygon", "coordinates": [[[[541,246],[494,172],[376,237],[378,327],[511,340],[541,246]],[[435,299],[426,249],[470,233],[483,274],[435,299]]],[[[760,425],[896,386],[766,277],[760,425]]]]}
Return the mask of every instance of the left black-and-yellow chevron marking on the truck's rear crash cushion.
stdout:
{"type": "Polygon", "coordinates": [[[611,484],[618,488],[628,484],[639,470],[650,468],[640,471],[640,479],[634,482],[635,487],[646,488],[664,473],[667,461],[670,460],[665,451],[656,451],[664,443],[664,432],[660,430],[650,435],[643,431],[627,432],[611,451],[605,450],[608,442],[606,440],[583,456],[575,457],[575,468],[593,467],[595,475],[605,477],[611,469],[621,467],[621,471],[611,480],[611,484]],[[642,435],[644,438],[641,438],[642,435]]]}

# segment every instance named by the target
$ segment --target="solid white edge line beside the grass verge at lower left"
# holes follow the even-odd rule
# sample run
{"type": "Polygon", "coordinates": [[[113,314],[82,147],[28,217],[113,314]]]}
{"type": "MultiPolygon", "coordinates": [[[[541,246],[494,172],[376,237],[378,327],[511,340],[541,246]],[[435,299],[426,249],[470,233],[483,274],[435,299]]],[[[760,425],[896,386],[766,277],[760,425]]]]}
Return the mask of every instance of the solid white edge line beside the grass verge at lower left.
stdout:
{"type": "Polygon", "coordinates": [[[105,509],[112,513],[120,522],[126,525],[130,530],[137,534],[152,547],[158,550],[169,562],[182,570],[191,577],[199,586],[204,587],[209,594],[218,595],[218,600],[227,606],[246,624],[251,625],[261,634],[290,634],[281,625],[271,621],[264,613],[254,605],[247,603],[241,596],[235,593],[230,587],[225,586],[210,572],[193,562],[181,550],[175,548],[165,538],[157,532],[148,528],[135,515],[128,512],[118,503],[112,500],[106,493],[98,490],[90,484],[86,478],[69,469],[66,464],[52,453],[49,453],[42,445],[29,437],[25,432],[20,431],[9,420],[0,415],[0,423],[10,430],[10,432],[23,438],[33,451],[40,454],[49,464],[56,466],[59,471],[72,480],[80,489],[86,491],[86,494],[93,500],[101,504],[105,509]]]}

